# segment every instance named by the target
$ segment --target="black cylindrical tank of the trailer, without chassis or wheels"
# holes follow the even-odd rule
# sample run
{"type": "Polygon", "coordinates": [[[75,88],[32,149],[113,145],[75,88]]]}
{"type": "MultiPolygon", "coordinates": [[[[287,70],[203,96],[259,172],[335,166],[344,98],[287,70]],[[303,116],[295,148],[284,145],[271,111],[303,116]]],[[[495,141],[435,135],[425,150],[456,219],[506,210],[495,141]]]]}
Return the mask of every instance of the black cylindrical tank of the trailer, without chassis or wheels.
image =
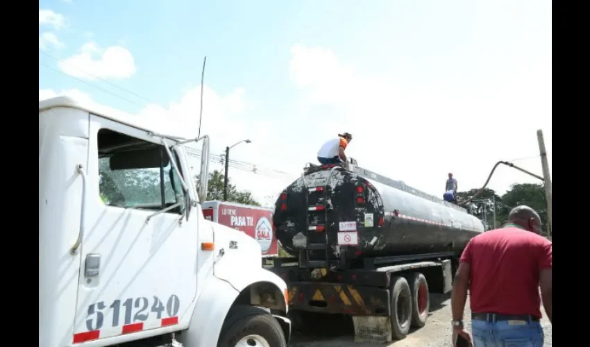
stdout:
{"type": "Polygon", "coordinates": [[[453,251],[484,231],[464,208],[360,167],[313,167],[280,194],[273,215],[278,242],[310,259],[453,251]]]}

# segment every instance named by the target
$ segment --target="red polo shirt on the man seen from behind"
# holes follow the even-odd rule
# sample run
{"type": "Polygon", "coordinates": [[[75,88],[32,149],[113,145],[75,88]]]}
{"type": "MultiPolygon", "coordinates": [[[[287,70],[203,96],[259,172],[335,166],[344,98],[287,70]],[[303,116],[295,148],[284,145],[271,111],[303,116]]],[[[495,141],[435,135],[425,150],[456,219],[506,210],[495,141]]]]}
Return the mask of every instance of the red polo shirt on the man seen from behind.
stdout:
{"type": "Polygon", "coordinates": [[[541,318],[539,272],[551,269],[552,243],[519,226],[473,237],[461,262],[471,265],[471,312],[541,318]]]}

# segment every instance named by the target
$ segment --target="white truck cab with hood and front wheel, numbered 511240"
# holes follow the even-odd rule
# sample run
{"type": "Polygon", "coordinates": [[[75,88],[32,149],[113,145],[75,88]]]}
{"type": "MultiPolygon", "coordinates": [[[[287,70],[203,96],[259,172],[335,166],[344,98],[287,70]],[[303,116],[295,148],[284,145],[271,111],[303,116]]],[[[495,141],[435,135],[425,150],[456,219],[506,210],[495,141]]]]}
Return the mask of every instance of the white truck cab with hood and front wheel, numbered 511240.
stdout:
{"type": "Polygon", "coordinates": [[[39,102],[39,346],[287,346],[287,285],[203,217],[208,137],[166,126],[39,102]]]}

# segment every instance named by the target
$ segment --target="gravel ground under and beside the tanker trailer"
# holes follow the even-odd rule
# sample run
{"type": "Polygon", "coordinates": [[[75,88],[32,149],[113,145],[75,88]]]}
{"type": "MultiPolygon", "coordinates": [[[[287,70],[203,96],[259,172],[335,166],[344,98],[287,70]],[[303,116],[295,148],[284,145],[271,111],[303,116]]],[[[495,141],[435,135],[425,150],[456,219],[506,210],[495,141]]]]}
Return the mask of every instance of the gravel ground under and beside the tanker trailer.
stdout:
{"type": "MultiPolygon", "coordinates": [[[[541,312],[543,310],[541,309],[541,312]]],[[[544,314],[545,312],[543,312],[544,314]]],[[[321,332],[311,332],[303,336],[300,333],[294,333],[291,347],[369,347],[384,346],[385,344],[355,343],[352,319],[345,316],[337,315],[315,315],[314,330],[319,330],[317,326],[321,325],[321,332]]],[[[410,332],[410,335],[400,341],[394,341],[387,347],[447,347],[451,346],[450,336],[450,296],[448,294],[431,294],[430,295],[430,316],[424,328],[410,332]]],[[[465,325],[468,331],[471,331],[471,310],[469,309],[469,298],[465,307],[465,325]]],[[[541,320],[543,331],[545,332],[545,344],[543,347],[551,345],[551,323],[548,319],[541,320]]]]}

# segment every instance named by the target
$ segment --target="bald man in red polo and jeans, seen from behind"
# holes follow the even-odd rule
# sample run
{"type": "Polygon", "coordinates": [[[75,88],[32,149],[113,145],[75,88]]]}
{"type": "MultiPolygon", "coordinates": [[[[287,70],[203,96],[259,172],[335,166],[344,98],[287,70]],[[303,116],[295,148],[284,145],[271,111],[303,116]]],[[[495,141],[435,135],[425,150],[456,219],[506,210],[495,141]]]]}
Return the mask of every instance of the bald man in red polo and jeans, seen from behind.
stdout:
{"type": "Polygon", "coordinates": [[[543,346],[541,298],[553,323],[552,243],[539,235],[541,218],[532,208],[514,208],[508,221],[473,237],[463,251],[450,299],[453,346],[457,335],[471,344],[462,321],[468,286],[472,346],[543,346]]]}

